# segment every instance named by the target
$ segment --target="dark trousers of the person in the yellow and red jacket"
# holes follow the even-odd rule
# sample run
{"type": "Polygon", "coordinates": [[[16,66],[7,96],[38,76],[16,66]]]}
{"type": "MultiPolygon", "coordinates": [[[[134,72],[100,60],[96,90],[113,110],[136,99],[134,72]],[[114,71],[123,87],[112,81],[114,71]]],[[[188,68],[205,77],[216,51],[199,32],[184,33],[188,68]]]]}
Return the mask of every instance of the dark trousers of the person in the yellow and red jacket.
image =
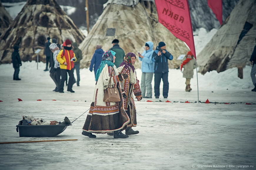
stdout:
{"type": "Polygon", "coordinates": [[[67,78],[67,73],[69,74],[69,83],[68,83],[68,89],[67,90],[72,90],[73,86],[73,80],[74,80],[74,73],[73,70],[66,70],[66,69],[60,69],[61,70],[61,80],[59,82],[58,89],[60,92],[62,92],[64,89],[64,82],[67,78]]]}

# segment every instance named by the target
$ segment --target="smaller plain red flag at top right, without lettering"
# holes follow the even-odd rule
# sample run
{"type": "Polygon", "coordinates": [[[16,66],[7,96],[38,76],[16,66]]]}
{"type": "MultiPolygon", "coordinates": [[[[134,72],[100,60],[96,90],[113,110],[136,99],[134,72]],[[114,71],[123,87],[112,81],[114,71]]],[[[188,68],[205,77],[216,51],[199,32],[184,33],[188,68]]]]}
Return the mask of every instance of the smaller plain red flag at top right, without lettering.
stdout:
{"type": "Polygon", "coordinates": [[[217,20],[222,24],[222,0],[208,0],[208,6],[212,9],[212,12],[215,14],[217,20]]]}

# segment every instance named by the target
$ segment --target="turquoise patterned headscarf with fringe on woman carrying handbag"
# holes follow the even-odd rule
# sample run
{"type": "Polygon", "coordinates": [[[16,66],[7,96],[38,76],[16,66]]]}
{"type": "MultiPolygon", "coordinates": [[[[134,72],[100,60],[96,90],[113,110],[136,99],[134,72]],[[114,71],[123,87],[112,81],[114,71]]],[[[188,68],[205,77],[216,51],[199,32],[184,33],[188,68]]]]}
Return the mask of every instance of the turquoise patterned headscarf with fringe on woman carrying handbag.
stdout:
{"type": "Polygon", "coordinates": [[[97,81],[99,79],[99,75],[102,72],[102,69],[105,67],[105,65],[107,64],[108,66],[113,67],[114,63],[114,55],[116,53],[112,50],[108,50],[105,51],[105,53],[102,55],[102,61],[99,65],[99,68],[97,70],[96,76],[95,76],[95,81],[97,81]]]}

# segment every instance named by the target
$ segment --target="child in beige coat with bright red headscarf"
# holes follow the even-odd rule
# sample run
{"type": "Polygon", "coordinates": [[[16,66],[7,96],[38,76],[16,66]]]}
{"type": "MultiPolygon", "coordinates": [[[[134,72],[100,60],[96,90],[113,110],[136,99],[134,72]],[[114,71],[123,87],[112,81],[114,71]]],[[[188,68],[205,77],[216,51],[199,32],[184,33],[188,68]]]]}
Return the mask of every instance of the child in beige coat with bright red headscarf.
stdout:
{"type": "Polygon", "coordinates": [[[186,78],[185,91],[190,92],[192,90],[192,88],[190,87],[190,79],[193,78],[194,69],[196,68],[196,60],[191,51],[187,52],[185,60],[181,64],[180,66],[181,71],[182,71],[182,67],[184,67],[183,77],[186,78]]]}

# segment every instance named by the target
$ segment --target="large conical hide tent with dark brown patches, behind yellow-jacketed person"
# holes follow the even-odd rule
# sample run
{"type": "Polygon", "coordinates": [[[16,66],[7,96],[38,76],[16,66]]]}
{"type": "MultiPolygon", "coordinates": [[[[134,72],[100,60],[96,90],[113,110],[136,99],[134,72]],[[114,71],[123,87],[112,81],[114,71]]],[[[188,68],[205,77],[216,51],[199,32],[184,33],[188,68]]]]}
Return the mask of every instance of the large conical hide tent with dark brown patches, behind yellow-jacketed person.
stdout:
{"type": "Polygon", "coordinates": [[[0,36],[0,63],[11,63],[13,46],[19,46],[22,61],[45,61],[46,37],[56,38],[58,43],[66,39],[78,44],[85,38],[55,0],[28,0],[9,28],[0,36]]]}

